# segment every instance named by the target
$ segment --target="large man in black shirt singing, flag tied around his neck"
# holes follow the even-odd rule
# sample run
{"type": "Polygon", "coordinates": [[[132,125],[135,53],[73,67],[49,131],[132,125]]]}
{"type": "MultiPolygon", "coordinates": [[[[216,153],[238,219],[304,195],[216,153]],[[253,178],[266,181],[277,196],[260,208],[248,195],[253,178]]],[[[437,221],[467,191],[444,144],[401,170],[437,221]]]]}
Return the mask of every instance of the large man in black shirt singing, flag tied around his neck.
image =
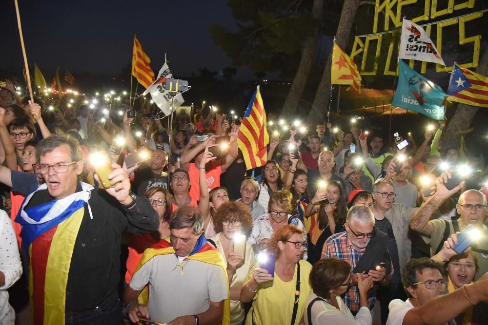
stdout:
{"type": "Polygon", "coordinates": [[[130,192],[129,179],[117,164],[108,175],[111,188],[98,190],[78,181],[83,160],[74,139],[47,137],[36,146],[36,156],[35,171],[45,181],[39,187],[25,187],[32,174],[0,175],[13,190],[28,194],[16,221],[29,261],[25,272],[32,274],[34,323],[121,324],[122,231],[157,230],[156,211],[146,198],[130,192]]]}

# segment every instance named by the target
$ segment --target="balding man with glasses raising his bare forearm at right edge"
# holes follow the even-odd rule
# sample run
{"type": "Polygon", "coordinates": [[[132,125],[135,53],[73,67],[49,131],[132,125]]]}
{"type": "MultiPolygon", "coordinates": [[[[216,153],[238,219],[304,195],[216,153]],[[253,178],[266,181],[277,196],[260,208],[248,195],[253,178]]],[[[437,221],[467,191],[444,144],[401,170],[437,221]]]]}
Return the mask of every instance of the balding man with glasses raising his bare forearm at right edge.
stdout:
{"type": "Polygon", "coordinates": [[[478,258],[480,272],[475,280],[488,271],[488,227],[483,224],[487,214],[487,198],[476,190],[468,190],[459,196],[456,210],[460,217],[452,217],[450,221],[442,219],[430,220],[439,206],[464,186],[464,181],[452,190],[447,190],[444,184],[451,178],[450,172],[444,172],[437,178],[437,191],[427,199],[426,203],[415,213],[410,228],[420,232],[424,241],[430,245],[430,256],[435,255],[444,241],[456,231],[463,231],[472,225],[482,232],[480,239],[471,246],[478,258]]]}

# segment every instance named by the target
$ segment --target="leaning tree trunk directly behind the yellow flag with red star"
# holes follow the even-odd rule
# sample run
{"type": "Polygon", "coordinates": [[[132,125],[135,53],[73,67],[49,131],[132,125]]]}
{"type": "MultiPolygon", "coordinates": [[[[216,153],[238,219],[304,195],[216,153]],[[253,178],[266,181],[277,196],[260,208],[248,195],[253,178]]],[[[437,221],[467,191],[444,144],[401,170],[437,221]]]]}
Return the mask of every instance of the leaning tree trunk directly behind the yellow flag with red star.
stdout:
{"type": "MultiPolygon", "coordinates": [[[[341,19],[339,20],[339,26],[337,27],[337,33],[335,35],[336,43],[342,49],[346,48],[349,40],[349,33],[351,32],[356,12],[359,8],[361,0],[345,0],[342,8],[341,19]]],[[[332,62],[332,50],[329,53],[327,62],[325,63],[324,74],[319,83],[319,88],[315,94],[312,109],[308,114],[307,124],[312,125],[317,121],[322,121],[325,116],[325,111],[328,107],[328,101],[330,96],[330,70],[332,62]]]]}

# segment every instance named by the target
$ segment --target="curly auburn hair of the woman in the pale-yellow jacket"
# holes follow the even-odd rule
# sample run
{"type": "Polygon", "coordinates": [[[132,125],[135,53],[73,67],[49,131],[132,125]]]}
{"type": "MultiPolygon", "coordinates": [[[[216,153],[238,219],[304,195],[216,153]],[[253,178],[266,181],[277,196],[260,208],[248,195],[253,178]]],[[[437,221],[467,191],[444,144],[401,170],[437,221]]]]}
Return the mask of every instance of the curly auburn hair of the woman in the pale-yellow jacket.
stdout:
{"type": "Polygon", "coordinates": [[[215,232],[222,232],[224,229],[223,222],[225,220],[232,221],[237,219],[241,221],[241,230],[243,233],[249,232],[252,228],[252,216],[249,208],[241,202],[225,202],[220,206],[215,216],[212,217],[215,232]]]}

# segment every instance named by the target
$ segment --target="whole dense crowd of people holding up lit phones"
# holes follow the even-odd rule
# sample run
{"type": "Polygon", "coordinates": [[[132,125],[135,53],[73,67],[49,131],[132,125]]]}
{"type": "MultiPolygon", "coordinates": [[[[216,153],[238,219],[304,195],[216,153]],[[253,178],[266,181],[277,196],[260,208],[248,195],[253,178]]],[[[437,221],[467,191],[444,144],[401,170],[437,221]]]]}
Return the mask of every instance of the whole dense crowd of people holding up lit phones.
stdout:
{"type": "Polygon", "coordinates": [[[0,89],[0,324],[488,324],[484,166],[445,121],[399,149],[270,114],[246,170],[204,102],[40,95],[0,89]]]}

